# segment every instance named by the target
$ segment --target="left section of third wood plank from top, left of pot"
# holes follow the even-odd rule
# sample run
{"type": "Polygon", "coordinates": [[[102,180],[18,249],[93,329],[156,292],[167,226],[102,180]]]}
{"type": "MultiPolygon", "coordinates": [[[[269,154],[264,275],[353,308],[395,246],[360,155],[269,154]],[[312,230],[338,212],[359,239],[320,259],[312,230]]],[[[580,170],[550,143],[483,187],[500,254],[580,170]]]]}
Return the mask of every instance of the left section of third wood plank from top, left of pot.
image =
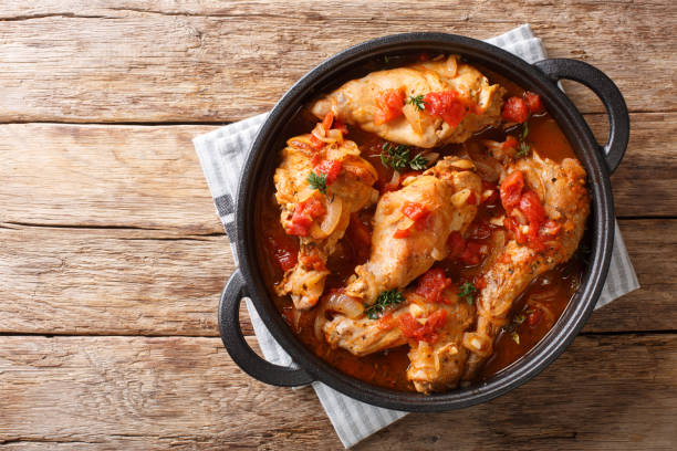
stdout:
{"type": "Polygon", "coordinates": [[[148,233],[0,229],[0,332],[218,335],[226,235],[148,233]]]}

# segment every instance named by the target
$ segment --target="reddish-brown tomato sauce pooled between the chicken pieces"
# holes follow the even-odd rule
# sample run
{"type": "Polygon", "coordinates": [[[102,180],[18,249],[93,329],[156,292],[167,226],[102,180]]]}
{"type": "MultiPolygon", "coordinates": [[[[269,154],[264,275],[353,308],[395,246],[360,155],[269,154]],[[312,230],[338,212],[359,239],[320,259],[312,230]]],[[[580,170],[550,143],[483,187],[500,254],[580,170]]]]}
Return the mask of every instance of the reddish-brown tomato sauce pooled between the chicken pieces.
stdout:
{"type": "MultiPolygon", "coordinates": [[[[500,83],[508,88],[506,98],[509,96],[522,96],[523,91],[514,83],[482,67],[478,69],[487,74],[492,82],[500,83]]],[[[315,123],[315,118],[302,112],[291,120],[287,133],[290,137],[310,133],[315,123]]],[[[341,126],[345,127],[343,124],[341,126]]],[[[514,130],[509,129],[507,132],[515,135],[514,130]]],[[[498,128],[488,128],[464,144],[446,145],[433,149],[433,151],[439,153],[440,158],[468,151],[483,151],[487,155],[483,146],[480,145],[481,140],[492,139],[503,141],[506,138],[506,132],[498,128]]],[[[353,126],[348,127],[347,139],[354,140],[360,146],[363,158],[369,161],[376,169],[378,180],[375,188],[379,189],[381,192],[397,189],[402,179],[407,176],[407,172],[400,175],[399,181],[394,182],[394,170],[384,166],[381,160],[385,141],[374,134],[363,132],[353,126]]],[[[529,118],[529,141],[538,149],[539,155],[542,157],[561,161],[563,158],[575,156],[558,124],[544,111],[529,118]]],[[[420,151],[423,149],[410,148],[412,157],[420,151]]],[[[420,174],[420,171],[412,172],[412,175],[420,174]]],[[[444,271],[444,274],[457,286],[465,282],[475,282],[476,285],[480,284],[478,277],[483,270],[482,263],[486,258],[486,254],[481,253],[481,249],[489,247],[491,232],[498,227],[491,224],[489,219],[503,213],[503,207],[498,196],[498,187],[496,187],[496,183],[485,182],[485,189],[487,188],[493,188],[497,192],[480,204],[478,214],[470,227],[470,234],[465,239],[456,237],[456,241],[451,245],[451,252],[457,253],[459,258],[445,259],[434,265],[434,268],[444,271]]],[[[371,219],[374,209],[375,207],[371,210],[354,213],[351,218],[351,226],[348,226],[345,237],[338,242],[336,252],[330,256],[326,263],[331,275],[326,280],[325,293],[331,289],[345,286],[355,266],[366,261],[371,239],[371,219]]],[[[414,214],[415,212],[412,211],[412,213],[414,214]]],[[[332,349],[323,339],[317,339],[314,335],[313,323],[315,312],[313,310],[302,313],[294,312],[289,297],[275,295],[274,284],[282,279],[283,268],[289,268],[290,262],[293,261],[289,253],[298,245],[298,239],[285,235],[280,224],[280,208],[274,199],[272,177],[271,180],[267,181],[262,190],[257,208],[254,227],[257,235],[262,238],[257,247],[258,261],[269,293],[287,323],[304,345],[320,358],[350,376],[382,387],[415,391],[413,385],[406,379],[406,370],[409,365],[407,346],[400,346],[366,357],[355,357],[344,349],[332,349]],[[291,242],[289,241],[290,238],[291,242]],[[277,242],[281,242],[281,249],[275,249],[274,245],[271,245],[271,243],[274,244],[277,242]]],[[[454,239],[450,238],[450,240],[454,239]]],[[[585,243],[586,241],[587,238],[584,238],[583,242],[585,243]]],[[[514,363],[552,328],[579,289],[585,266],[584,258],[576,253],[567,263],[546,272],[532,282],[515,302],[513,321],[503,328],[497,338],[494,353],[486,363],[479,379],[491,377],[514,363]]],[[[417,281],[414,283],[417,283],[417,281]]],[[[440,318],[440,321],[442,319],[440,318]]],[[[412,332],[412,334],[416,333],[418,332],[412,332]]]]}

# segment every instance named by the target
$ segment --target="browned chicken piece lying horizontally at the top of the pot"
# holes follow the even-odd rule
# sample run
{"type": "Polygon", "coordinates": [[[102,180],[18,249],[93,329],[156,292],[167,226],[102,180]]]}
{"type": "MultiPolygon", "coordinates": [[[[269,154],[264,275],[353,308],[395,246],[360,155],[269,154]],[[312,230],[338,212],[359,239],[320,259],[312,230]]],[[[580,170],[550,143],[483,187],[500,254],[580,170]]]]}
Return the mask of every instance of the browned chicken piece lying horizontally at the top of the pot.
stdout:
{"type": "Polygon", "coordinates": [[[456,55],[451,55],[406,67],[372,72],[365,77],[350,81],[317,99],[311,105],[311,112],[317,117],[333,112],[341,120],[357,125],[389,141],[430,148],[447,143],[462,143],[475,132],[498,125],[503,92],[499,85],[490,85],[477,69],[460,63],[456,55]],[[455,91],[478,107],[475,112],[468,112],[455,128],[412,104],[404,106],[403,116],[386,124],[374,124],[376,98],[384,91],[400,88],[405,98],[455,91]]]}

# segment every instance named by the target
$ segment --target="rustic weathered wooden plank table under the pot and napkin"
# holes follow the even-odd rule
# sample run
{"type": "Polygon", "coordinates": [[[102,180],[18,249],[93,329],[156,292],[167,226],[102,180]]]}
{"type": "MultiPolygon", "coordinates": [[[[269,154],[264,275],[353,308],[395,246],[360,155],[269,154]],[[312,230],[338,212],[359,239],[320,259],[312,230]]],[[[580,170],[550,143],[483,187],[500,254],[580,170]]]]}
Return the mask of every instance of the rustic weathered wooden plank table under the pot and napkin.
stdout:
{"type": "MultiPolygon", "coordinates": [[[[524,22],[627,99],[612,180],[643,287],[528,385],[356,449],[677,445],[673,0],[1,3],[0,449],[341,449],[311,389],[259,384],[221,346],[233,261],[190,139],[366,39],[524,22]]],[[[601,103],[566,88],[604,139],[601,103]]]]}

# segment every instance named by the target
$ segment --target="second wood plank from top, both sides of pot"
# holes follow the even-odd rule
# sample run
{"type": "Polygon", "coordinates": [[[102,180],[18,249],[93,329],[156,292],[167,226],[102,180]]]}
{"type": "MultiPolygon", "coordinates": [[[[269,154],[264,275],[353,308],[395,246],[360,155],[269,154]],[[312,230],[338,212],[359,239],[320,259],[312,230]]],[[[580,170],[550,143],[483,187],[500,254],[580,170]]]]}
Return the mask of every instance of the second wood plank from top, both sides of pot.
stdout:
{"type": "MultiPolygon", "coordinates": [[[[602,140],[604,116],[587,119],[602,140]]],[[[674,216],[677,113],[633,114],[632,120],[629,148],[613,177],[616,212],[674,216]]],[[[190,141],[210,129],[0,125],[0,222],[220,233],[190,141]]]]}

